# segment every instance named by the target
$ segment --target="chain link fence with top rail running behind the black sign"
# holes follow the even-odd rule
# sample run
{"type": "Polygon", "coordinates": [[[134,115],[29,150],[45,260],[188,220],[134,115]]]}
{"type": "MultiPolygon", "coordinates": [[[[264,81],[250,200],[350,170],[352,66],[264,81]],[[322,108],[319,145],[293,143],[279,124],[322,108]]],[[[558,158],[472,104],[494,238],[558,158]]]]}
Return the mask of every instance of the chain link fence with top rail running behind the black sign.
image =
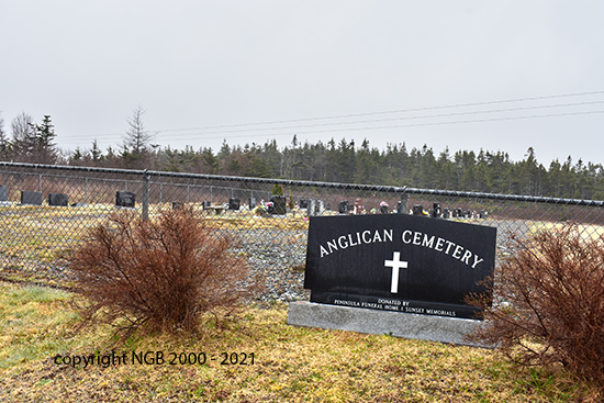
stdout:
{"type": "Polygon", "coordinates": [[[604,234],[604,201],[384,186],[0,163],[0,273],[53,276],[58,254],[112,212],[153,217],[187,204],[235,248],[278,269],[301,270],[309,216],[422,214],[529,235],[566,221],[604,234]]]}

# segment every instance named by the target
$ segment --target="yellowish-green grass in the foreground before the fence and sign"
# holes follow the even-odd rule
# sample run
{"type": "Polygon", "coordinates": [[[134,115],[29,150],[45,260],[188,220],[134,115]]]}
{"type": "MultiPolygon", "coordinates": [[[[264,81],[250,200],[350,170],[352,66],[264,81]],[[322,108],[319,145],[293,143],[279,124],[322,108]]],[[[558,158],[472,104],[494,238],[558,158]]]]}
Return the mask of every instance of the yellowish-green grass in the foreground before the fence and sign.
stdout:
{"type": "Polygon", "coordinates": [[[0,282],[0,402],[566,402],[581,393],[564,371],[517,368],[488,349],[289,326],[286,305],[245,309],[198,336],[111,347],[107,326],[72,333],[71,298],[0,282]],[[112,348],[125,363],[105,365],[112,348]],[[71,365],[91,355],[93,363],[71,365]]]}

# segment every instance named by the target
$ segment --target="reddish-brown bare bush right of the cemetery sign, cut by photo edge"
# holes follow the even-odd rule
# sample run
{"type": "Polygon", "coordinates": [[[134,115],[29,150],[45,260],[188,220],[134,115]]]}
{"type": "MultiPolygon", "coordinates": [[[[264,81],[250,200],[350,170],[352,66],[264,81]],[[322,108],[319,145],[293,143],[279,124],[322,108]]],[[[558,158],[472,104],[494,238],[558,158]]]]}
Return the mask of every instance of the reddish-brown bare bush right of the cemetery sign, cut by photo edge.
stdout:
{"type": "Polygon", "coordinates": [[[604,236],[574,224],[513,236],[495,271],[494,303],[476,299],[485,327],[474,339],[496,344],[523,365],[561,362],[604,385],[604,236]]]}

